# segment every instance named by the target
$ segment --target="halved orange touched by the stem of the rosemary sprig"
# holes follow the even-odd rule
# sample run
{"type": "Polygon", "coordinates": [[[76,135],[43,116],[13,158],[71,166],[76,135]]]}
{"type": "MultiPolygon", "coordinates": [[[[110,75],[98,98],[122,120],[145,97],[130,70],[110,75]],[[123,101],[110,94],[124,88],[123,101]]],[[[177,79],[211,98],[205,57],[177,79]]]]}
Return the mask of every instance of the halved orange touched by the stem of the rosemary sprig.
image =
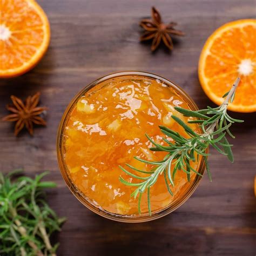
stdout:
{"type": "Polygon", "coordinates": [[[201,51],[198,74],[206,95],[218,105],[240,77],[228,109],[256,111],[256,19],[233,21],[214,31],[201,51]]]}

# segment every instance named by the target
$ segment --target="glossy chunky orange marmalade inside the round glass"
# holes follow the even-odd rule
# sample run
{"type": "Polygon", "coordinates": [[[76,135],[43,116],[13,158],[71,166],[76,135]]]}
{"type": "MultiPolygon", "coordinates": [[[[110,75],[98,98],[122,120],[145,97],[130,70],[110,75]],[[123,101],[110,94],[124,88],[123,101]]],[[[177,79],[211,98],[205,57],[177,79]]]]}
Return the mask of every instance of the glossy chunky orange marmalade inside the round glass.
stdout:
{"type": "MultiPolygon", "coordinates": [[[[141,181],[128,176],[118,166],[129,170],[125,164],[130,164],[150,171],[152,165],[133,157],[163,160],[166,152],[151,151],[152,144],[145,137],[147,133],[155,142],[165,145],[163,137],[167,137],[160,132],[159,125],[187,137],[183,128],[171,118],[174,114],[187,123],[187,118],[174,109],[174,106],[188,109],[186,99],[158,79],[126,76],[99,83],[75,104],[63,134],[64,161],[72,183],[91,204],[104,211],[121,215],[138,214],[138,198],[131,198],[136,187],[120,183],[119,177],[132,183],[141,181]]],[[[188,125],[193,130],[198,129],[197,125],[188,125]]],[[[193,167],[197,169],[197,163],[193,167]]],[[[194,178],[195,174],[191,173],[191,180],[194,178]]],[[[163,175],[160,175],[150,190],[152,212],[169,206],[181,197],[189,185],[186,173],[178,171],[174,186],[170,186],[171,196],[163,175]]],[[[148,212],[147,193],[142,196],[141,210],[142,213],[148,212]]]]}

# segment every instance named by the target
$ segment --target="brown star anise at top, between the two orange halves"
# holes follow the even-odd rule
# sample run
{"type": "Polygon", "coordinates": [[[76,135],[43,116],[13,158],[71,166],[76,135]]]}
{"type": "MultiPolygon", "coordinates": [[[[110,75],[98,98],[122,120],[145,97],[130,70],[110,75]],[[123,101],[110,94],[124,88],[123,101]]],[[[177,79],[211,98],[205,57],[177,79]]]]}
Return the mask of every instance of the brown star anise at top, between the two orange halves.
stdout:
{"type": "Polygon", "coordinates": [[[170,22],[169,24],[164,24],[161,20],[161,15],[159,11],[152,7],[151,11],[152,20],[142,19],[139,25],[146,30],[146,32],[140,37],[140,41],[146,41],[153,38],[151,45],[151,51],[157,49],[157,46],[163,40],[164,44],[170,49],[173,49],[172,38],[169,34],[183,36],[184,33],[180,30],[176,30],[173,26],[176,26],[177,23],[170,22]]]}

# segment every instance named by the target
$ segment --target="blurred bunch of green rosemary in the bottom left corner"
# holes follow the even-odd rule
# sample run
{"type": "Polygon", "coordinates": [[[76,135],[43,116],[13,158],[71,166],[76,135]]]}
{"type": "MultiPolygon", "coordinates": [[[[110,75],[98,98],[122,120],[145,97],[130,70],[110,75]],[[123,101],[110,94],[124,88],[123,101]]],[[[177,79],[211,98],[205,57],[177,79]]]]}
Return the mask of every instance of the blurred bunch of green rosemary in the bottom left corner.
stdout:
{"type": "Polygon", "coordinates": [[[58,244],[52,246],[50,235],[60,231],[65,218],[58,218],[43,197],[43,188],[55,183],[41,181],[44,172],[31,179],[21,170],[4,175],[0,172],[0,254],[56,255],[58,244]]]}

